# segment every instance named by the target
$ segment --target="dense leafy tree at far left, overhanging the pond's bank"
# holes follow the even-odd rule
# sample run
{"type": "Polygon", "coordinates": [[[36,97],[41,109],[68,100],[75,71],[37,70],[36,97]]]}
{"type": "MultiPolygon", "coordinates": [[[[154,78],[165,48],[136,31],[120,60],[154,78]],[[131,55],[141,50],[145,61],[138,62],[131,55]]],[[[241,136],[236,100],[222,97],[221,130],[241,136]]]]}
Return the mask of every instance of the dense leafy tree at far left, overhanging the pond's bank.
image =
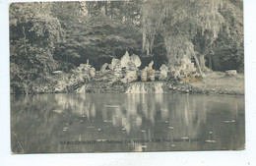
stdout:
{"type": "Polygon", "coordinates": [[[62,30],[50,8],[48,3],[10,6],[11,86],[14,88],[28,86],[26,82],[47,75],[57,66],[53,52],[62,30]]]}

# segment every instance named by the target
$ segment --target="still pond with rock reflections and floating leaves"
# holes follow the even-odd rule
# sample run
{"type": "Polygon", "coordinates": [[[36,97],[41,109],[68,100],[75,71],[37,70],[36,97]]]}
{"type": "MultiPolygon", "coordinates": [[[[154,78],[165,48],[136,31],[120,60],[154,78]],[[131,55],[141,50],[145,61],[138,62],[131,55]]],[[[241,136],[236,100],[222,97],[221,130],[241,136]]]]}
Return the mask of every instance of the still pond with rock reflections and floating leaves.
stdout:
{"type": "Polygon", "coordinates": [[[243,149],[244,96],[11,96],[13,153],[243,149]]]}

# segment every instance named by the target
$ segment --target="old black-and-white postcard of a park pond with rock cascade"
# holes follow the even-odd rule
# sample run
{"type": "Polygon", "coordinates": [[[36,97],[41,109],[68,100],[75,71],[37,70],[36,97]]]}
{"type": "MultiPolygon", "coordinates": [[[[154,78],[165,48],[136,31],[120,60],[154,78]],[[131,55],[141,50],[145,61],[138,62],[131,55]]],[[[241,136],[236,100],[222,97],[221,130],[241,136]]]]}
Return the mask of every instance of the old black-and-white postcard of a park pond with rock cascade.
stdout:
{"type": "Polygon", "coordinates": [[[9,7],[11,149],[245,148],[243,2],[9,7]]]}

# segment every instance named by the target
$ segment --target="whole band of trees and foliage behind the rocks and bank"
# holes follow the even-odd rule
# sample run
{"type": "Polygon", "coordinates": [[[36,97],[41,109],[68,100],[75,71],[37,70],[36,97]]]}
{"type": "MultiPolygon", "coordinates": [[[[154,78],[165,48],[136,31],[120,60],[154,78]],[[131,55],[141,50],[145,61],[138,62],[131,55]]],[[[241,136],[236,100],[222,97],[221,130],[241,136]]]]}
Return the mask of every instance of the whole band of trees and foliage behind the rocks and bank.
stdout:
{"type": "Polygon", "coordinates": [[[10,5],[11,86],[47,81],[90,60],[96,70],[125,51],[144,67],[187,56],[200,73],[243,72],[241,0],[36,2],[10,5]]]}

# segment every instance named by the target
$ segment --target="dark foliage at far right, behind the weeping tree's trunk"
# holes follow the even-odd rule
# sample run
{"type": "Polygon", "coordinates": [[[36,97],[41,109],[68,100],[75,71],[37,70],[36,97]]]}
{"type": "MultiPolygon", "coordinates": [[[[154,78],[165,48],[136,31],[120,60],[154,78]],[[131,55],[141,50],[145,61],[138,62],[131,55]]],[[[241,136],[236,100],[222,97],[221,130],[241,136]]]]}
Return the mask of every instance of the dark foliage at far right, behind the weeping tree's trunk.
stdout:
{"type": "Polygon", "coordinates": [[[215,55],[208,57],[209,66],[212,64],[214,70],[236,69],[243,72],[243,12],[240,2],[226,1],[224,8],[220,10],[225,22],[212,47],[215,55]]]}

